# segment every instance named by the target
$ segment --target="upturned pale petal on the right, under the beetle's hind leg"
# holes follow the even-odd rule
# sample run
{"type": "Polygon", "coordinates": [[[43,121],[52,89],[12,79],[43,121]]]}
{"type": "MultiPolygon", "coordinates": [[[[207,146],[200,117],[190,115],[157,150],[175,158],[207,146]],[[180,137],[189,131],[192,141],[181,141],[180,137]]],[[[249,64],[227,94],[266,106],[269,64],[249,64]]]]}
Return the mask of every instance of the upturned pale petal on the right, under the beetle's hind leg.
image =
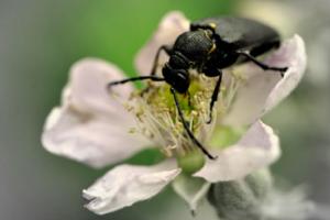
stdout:
{"type": "Polygon", "coordinates": [[[238,67],[246,78],[239,88],[231,111],[223,119],[226,124],[251,124],[286,98],[300,81],[306,68],[306,52],[299,35],[285,41],[280,48],[264,63],[270,66],[289,67],[285,77],[279,73],[264,72],[254,64],[238,67]]]}

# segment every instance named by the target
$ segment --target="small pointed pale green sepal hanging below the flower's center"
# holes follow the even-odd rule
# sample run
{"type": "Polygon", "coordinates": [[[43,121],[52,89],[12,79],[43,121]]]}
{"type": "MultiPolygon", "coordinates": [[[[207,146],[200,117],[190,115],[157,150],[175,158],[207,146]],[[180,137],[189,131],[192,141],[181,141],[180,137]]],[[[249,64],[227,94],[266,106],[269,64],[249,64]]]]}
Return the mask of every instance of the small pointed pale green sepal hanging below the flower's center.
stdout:
{"type": "Polygon", "coordinates": [[[174,190],[189,205],[193,213],[199,202],[205,198],[210,188],[210,184],[201,178],[196,178],[180,174],[174,182],[174,190]]]}

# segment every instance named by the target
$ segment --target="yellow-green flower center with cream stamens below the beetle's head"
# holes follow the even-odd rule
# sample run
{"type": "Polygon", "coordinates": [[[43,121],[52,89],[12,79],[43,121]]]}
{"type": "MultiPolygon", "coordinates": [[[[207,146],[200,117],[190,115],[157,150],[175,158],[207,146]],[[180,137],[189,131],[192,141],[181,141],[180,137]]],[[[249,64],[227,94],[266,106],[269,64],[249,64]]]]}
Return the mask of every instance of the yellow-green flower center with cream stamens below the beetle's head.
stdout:
{"type": "MultiPolygon", "coordinates": [[[[213,108],[213,120],[208,124],[206,122],[209,119],[209,107],[217,78],[201,74],[190,74],[190,77],[188,92],[177,95],[179,108],[189,130],[205,147],[209,147],[208,141],[217,121],[227,111],[235,86],[232,82],[221,85],[221,91],[213,108]]],[[[165,156],[176,157],[178,164],[204,163],[205,155],[187,134],[169,89],[169,85],[165,82],[150,81],[145,90],[134,91],[131,95],[127,106],[135,114],[138,131],[160,145],[165,156]]]]}

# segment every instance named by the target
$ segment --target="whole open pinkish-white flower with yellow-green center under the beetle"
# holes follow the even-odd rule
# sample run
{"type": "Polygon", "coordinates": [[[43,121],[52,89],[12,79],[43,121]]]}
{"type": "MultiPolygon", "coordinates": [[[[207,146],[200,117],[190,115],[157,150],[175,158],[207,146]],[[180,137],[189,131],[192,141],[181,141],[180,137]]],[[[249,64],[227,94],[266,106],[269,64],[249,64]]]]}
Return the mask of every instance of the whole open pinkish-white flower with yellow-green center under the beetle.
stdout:
{"type": "MultiPolygon", "coordinates": [[[[167,14],[138,55],[138,70],[150,73],[157,48],[173,44],[178,34],[188,30],[188,24],[179,12],[167,14]]],[[[165,55],[162,54],[161,61],[160,67],[166,61],[165,55]]],[[[174,180],[174,189],[195,210],[210,183],[243,178],[270,165],[280,154],[278,138],[258,119],[299,82],[306,66],[302,40],[295,35],[285,41],[265,63],[289,68],[284,78],[253,64],[226,72],[210,125],[205,121],[213,79],[199,75],[193,80],[194,108],[184,112],[198,140],[218,156],[215,161],[207,160],[185,135],[172,97],[167,98],[168,85],[153,82],[141,97],[131,84],[125,84],[113,87],[110,95],[107,84],[125,76],[116,66],[96,58],[73,66],[62,105],[46,120],[43,145],[54,154],[94,167],[160,145],[167,160],[152,166],[116,166],[84,190],[84,197],[90,200],[86,207],[99,215],[116,211],[155,196],[174,180]]],[[[180,99],[182,105],[187,100],[180,99]]]]}

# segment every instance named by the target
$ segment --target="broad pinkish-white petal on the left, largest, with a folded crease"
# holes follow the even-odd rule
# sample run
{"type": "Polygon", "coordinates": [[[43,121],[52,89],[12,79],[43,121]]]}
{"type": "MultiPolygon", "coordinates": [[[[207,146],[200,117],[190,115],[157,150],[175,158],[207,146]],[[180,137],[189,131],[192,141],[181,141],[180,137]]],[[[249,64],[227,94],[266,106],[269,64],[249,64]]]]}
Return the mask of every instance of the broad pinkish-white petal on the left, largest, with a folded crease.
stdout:
{"type": "MultiPolygon", "coordinates": [[[[145,147],[143,138],[129,133],[134,118],[107,92],[107,84],[122,77],[116,66],[99,59],[77,63],[63,91],[62,106],[46,120],[44,147],[94,167],[119,162],[145,147]]],[[[131,89],[127,85],[116,91],[125,98],[131,89]]]]}

